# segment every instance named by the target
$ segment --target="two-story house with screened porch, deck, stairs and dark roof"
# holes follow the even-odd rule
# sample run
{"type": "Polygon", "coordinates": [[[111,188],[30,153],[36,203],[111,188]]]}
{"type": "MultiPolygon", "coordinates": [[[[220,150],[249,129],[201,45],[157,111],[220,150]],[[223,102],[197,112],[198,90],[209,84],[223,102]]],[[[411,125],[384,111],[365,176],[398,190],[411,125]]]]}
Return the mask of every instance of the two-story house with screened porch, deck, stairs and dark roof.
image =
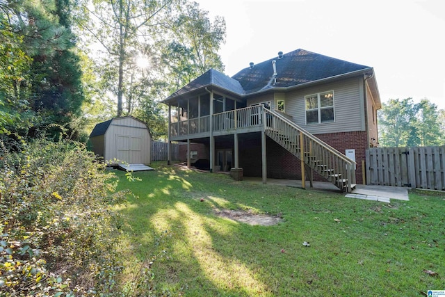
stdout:
{"type": "Polygon", "coordinates": [[[170,142],[202,143],[211,172],[242,168],[264,182],[315,178],[351,191],[378,143],[373,68],[304,49],[233,77],[211,69],[163,103],[170,142]]]}

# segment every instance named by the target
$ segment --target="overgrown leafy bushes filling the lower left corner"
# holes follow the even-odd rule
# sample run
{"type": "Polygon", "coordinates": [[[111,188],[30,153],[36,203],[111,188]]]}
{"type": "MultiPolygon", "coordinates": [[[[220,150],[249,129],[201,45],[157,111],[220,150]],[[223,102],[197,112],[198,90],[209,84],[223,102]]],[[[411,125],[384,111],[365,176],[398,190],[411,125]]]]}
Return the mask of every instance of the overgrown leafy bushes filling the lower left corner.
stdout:
{"type": "Polygon", "coordinates": [[[76,143],[0,150],[1,296],[115,296],[117,180],[76,143]]]}

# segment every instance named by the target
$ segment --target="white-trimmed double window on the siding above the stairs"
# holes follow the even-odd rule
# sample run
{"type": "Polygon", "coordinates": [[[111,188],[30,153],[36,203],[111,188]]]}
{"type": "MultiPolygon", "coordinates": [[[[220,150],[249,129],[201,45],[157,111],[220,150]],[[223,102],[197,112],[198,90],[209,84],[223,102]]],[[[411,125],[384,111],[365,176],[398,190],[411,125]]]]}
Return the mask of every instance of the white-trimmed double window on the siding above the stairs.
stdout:
{"type": "Polygon", "coordinates": [[[334,91],[305,96],[306,124],[334,122],[334,91]]]}

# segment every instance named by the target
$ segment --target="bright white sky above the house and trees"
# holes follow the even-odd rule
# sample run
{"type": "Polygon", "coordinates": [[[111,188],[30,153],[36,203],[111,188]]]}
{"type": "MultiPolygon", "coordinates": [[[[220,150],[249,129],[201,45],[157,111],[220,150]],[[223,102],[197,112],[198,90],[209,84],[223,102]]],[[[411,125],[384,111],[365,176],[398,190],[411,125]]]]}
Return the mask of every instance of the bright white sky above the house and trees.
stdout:
{"type": "Polygon", "coordinates": [[[295,49],[373,67],[380,99],[445,109],[443,0],[195,0],[225,18],[225,74],[295,49]]]}

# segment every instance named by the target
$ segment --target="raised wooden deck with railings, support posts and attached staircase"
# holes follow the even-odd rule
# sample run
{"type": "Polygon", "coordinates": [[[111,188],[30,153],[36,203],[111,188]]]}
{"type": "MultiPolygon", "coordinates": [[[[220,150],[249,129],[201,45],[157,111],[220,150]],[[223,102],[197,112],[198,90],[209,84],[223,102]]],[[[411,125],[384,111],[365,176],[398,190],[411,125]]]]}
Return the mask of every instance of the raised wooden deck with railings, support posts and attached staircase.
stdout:
{"type": "MultiPolygon", "coordinates": [[[[312,177],[312,172],[316,171],[341,191],[350,193],[355,187],[353,160],[305,129],[298,127],[280,113],[269,111],[262,105],[170,123],[170,141],[188,141],[189,143],[194,138],[211,138],[257,131],[263,132],[261,150],[266,151],[266,136],[268,136],[300,159],[302,176],[307,174],[312,177]]],[[[237,167],[237,137],[234,142],[235,167],[237,167]]],[[[261,163],[263,163],[263,176],[266,179],[265,154],[262,156],[261,163]]],[[[302,179],[302,187],[305,188],[305,179],[302,179]]]]}

